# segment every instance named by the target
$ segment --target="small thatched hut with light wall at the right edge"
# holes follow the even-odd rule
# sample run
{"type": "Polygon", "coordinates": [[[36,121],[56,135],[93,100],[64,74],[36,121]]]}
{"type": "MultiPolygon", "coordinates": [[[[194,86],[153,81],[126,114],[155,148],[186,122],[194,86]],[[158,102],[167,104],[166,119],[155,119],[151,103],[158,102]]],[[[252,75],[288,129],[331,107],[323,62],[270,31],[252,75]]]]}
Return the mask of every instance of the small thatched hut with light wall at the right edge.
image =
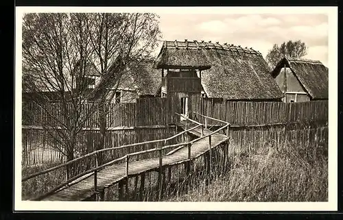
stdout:
{"type": "Polygon", "coordinates": [[[329,69],[318,60],[283,58],[272,71],[285,102],[329,99],[329,69]]]}

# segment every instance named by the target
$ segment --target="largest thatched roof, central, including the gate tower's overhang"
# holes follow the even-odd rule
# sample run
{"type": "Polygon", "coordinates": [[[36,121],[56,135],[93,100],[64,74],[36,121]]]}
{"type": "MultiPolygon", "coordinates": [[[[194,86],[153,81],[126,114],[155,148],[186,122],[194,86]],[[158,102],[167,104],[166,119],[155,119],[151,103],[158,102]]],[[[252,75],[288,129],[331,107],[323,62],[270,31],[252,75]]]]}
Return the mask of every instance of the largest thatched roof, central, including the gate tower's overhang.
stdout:
{"type": "Polygon", "coordinates": [[[202,86],[206,95],[212,98],[251,100],[283,97],[270,76],[267,62],[252,48],[226,43],[220,45],[219,42],[166,41],[154,66],[206,69],[202,71],[202,86]]]}

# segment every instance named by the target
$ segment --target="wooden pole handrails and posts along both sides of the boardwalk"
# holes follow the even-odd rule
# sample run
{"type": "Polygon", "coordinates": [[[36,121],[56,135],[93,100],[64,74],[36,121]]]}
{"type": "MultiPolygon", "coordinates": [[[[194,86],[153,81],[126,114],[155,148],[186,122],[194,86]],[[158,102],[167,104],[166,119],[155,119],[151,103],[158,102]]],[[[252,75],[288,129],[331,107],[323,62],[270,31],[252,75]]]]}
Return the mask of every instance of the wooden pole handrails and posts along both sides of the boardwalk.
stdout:
{"type": "MultiPolygon", "coordinates": [[[[206,116],[202,116],[202,117],[206,117],[206,116]]],[[[191,145],[193,143],[195,143],[198,140],[201,140],[203,138],[209,138],[209,151],[210,151],[210,155],[211,155],[211,136],[217,132],[220,132],[221,130],[224,130],[225,128],[227,128],[230,124],[226,123],[226,125],[224,125],[223,127],[220,127],[219,129],[215,130],[214,132],[211,132],[210,134],[206,134],[204,135],[204,130],[203,127],[204,125],[201,123],[198,123],[198,121],[194,121],[192,119],[189,119],[187,117],[186,121],[191,121],[193,123],[196,123],[197,125],[194,127],[191,127],[183,132],[180,132],[174,136],[171,136],[169,138],[165,138],[165,139],[161,139],[161,140],[150,140],[150,141],[145,141],[143,143],[134,143],[134,144],[130,144],[130,145],[123,145],[120,147],[112,147],[112,148],[108,148],[108,149],[100,149],[97,151],[94,151],[90,154],[86,154],[84,156],[81,156],[80,158],[75,158],[74,160],[70,160],[69,162],[66,162],[64,164],[60,164],[56,167],[51,167],[49,169],[46,169],[45,171],[40,171],[38,173],[34,173],[32,175],[28,175],[25,178],[22,178],[22,182],[23,184],[29,184],[29,185],[36,185],[39,187],[39,184],[35,184],[34,183],[34,179],[36,179],[37,182],[39,181],[43,181],[44,180],[49,180],[49,178],[55,178],[57,179],[56,182],[54,182],[54,186],[51,188],[48,188],[47,190],[42,192],[41,188],[36,188],[36,192],[33,193],[33,195],[35,196],[34,199],[32,200],[40,200],[43,199],[44,197],[47,197],[48,195],[51,195],[52,193],[62,190],[62,188],[67,188],[70,184],[74,184],[76,182],[80,182],[82,180],[84,180],[85,178],[88,178],[88,176],[90,175],[94,175],[94,193],[95,195],[97,195],[97,192],[101,191],[101,189],[97,186],[97,172],[104,169],[105,167],[108,167],[110,165],[113,164],[117,164],[119,162],[121,162],[121,164],[123,162],[125,162],[126,164],[126,176],[124,176],[123,178],[128,178],[128,176],[130,175],[129,173],[129,164],[130,164],[130,160],[134,161],[134,157],[137,156],[136,160],[139,160],[139,155],[141,154],[147,154],[150,152],[155,152],[158,151],[159,152],[159,165],[158,165],[158,169],[162,171],[162,167],[163,167],[163,151],[165,151],[166,149],[171,149],[174,148],[174,151],[177,151],[178,149],[187,146],[188,147],[188,158],[187,161],[191,161],[191,145]],[[167,142],[173,138],[176,138],[182,134],[185,134],[186,132],[191,132],[192,130],[195,130],[198,127],[202,127],[202,135],[199,138],[196,138],[194,140],[191,140],[189,142],[184,142],[184,143],[178,143],[178,144],[174,144],[174,145],[167,145],[167,142]],[[126,154],[126,156],[122,156],[121,158],[117,158],[115,160],[112,160],[110,162],[106,162],[105,164],[99,164],[99,158],[101,158],[101,154],[104,151],[114,151],[116,149],[122,149],[122,148],[126,148],[126,147],[134,147],[134,146],[139,146],[139,145],[146,145],[149,143],[158,143],[158,142],[164,142],[164,146],[163,147],[156,147],[154,149],[147,149],[144,151],[137,151],[134,153],[130,153],[130,154],[126,154]],[[65,171],[62,170],[62,172],[60,173],[64,173],[64,175],[60,175],[60,178],[58,178],[56,175],[56,171],[60,170],[60,169],[65,169],[65,171]],[[63,180],[64,179],[64,180],[63,180]],[[59,180],[59,181],[58,181],[59,180]],[[30,181],[33,181],[30,183],[30,181]],[[38,195],[38,196],[37,196],[38,195]]],[[[169,151],[168,154],[174,152],[169,151]]],[[[186,161],[186,160],[185,160],[186,161]]],[[[161,173],[161,172],[159,172],[161,173]]],[[[51,186],[51,184],[49,184],[51,186]]],[[[42,186],[40,186],[42,187],[42,186]]]]}

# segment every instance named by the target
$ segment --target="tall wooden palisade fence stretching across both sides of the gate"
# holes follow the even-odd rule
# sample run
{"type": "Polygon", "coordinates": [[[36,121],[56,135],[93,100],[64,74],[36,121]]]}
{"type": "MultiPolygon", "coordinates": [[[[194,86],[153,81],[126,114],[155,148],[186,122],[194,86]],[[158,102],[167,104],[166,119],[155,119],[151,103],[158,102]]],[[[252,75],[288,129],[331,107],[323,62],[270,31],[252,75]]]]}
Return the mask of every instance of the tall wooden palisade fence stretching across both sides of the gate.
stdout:
{"type": "MultiPolygon", "coordinates": [[[[137,99],[137,103],[112,104],[107,114],[108,130],[104,147],[118,147],[145,140],[163,139],[176,134],[176,127],[167,125],[171,123],[167,121],[168,114],[174,114],[174,112],[168,112],[165,103],[165,98],[142,98],[137,99]]],[[[197,106],[198,108],[193,109],[198,109],[201,114],[231,123],[230,137],[233,151],[257,149],[268,144],[282,145],[286,141],[296,141],[298,145],[314,143],[318,145],[327,141],[328,101],[282,103],[202,99],[200,105],[197,106]],[[287,131],[279,126],[309,122],[318,123],[318,126],[287,131]],[[250,125],[252,127],[245,127],[250,125]],[[254,125],[257,126],[254,127],[254,125]]],[[[58,138],[56,127],[63,127],[62,124],[67,120],[66,116],[62,115],[61,108],[60,103],[42,103],[38,106],[36,103],[23,102],[22,164],[24,167],[33,164],[60,163],[65,160],[63,147],[54,140],[58,138]],[[43,129],[43,127],[52,128],[43,129]]],[[[75,157],[94,151],[99,143],[97,106],[86,103],[82,108],[83,114],[80,118],[85,120],[86,129],[82,130],[78,136],[75,157]]],[[[190,117],[194,117],[193,114],[190,117]]],[[[200,121],[201,118],[199,118],[200,121]]],[[[204,121],[201,122],[204,123],[204,121]]],[[[215,125],[211,120],[207,123],[210,126],[215,125]]],[[[154,147],[156,144],[146,145],[139,149],[136,149],[137,147],[123,148],[117,150],[117,158],[134,151],[154,147]]],[[[149,156],[152,155],[147,155],[149,156]]],[[[104,157],[106,158],[106,155],[104,157]]],[[[109,159],[116,158],[106,160],[109,159]]]]}

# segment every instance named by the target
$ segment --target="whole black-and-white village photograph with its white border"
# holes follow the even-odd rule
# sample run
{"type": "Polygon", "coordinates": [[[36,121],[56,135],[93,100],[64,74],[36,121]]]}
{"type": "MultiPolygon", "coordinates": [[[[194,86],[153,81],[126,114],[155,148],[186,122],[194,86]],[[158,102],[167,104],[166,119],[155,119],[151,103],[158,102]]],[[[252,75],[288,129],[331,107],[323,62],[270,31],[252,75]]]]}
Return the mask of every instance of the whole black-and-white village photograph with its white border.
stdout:
{"type": "Polygon", "coordinates": [[[337,209],[337,13],[17,7],[15,207],[337,209]]]}

